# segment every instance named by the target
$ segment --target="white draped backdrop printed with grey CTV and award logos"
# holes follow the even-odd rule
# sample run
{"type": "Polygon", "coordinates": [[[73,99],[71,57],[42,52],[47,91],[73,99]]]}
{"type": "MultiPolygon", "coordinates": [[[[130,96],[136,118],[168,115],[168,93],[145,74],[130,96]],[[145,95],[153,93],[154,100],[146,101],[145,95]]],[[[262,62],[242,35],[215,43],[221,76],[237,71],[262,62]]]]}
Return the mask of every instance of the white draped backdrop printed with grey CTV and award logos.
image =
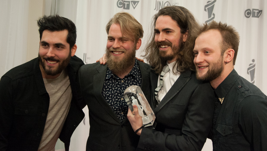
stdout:
{"type": "MultiPolygon", "coordinates": [[[[106,24],[117,12],[131,13],[143,26],[144,38],[137,51],[141,56],[149,39],[152,16],[164,6],[177,5],[189,9],[199,23],[212,20],[227,23],[240,34],[235,69],[240,76],[267,94],[267,1],[264,0],[78,0],[77,1],[77,52],[85,64],[94,63],[105,53],[106,24]]],[[[142,57],[140,57],[142,58],[142,57]]],[[[88,109],[85,119],[71,138],[71,150],[85,150],[89,133],[88,109]]],[[[212,150],[208,140],[203,150],[212,150]]]]}

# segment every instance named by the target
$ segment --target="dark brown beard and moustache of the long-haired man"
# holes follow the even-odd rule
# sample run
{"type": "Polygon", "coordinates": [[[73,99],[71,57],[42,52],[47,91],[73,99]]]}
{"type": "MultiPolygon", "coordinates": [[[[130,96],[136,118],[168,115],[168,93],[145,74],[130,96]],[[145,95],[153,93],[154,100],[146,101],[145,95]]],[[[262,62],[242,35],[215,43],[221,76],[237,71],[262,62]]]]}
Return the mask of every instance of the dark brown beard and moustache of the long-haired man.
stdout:
{"type": "Polygon", "coordinates": [[[179,51],[182,50],[184,47],[184,42],[182,40],[182,35],[181,35],[180,39],[179,39],[178,46],[176,46],[176,45],[172,46],[172,43],[169,41],[157,42],[157,46],[160,47],[160,45],[169,45],[171,47],[172,53],[170,53],[170,54],[167,54],[166,51],[159,51],[160,59],[163,61],[168,61],[168,60],[172,60],[176,56],[178,56],[179,51]]]}

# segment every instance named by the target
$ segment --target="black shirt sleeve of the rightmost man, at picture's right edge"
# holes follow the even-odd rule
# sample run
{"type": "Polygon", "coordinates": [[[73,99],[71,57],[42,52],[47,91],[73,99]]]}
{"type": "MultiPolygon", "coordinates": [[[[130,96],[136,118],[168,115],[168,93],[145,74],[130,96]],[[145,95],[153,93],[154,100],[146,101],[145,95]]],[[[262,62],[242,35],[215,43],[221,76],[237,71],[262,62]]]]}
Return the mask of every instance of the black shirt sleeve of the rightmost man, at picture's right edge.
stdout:
{"type": "Polygon", "coordinates": [[[267,100],[248,96],[240,103],[239,125],[252,150],[267,150],[267,100]]]}

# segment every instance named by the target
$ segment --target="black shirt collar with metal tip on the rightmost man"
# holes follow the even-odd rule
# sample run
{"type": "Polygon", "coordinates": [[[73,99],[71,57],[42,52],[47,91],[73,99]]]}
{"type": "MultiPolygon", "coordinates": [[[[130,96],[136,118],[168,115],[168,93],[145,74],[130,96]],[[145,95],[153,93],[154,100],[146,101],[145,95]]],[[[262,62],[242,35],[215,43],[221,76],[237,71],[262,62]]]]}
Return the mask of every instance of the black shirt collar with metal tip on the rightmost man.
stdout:
{"type": "Polygon", "coordinates": [[[233,84],[238,79],[239,75],[236,70],[233,69],[231,73],[222,81],[222,83],[214,90],[218,98],[225,98],[228,91],[232,88],[233,84]]]}

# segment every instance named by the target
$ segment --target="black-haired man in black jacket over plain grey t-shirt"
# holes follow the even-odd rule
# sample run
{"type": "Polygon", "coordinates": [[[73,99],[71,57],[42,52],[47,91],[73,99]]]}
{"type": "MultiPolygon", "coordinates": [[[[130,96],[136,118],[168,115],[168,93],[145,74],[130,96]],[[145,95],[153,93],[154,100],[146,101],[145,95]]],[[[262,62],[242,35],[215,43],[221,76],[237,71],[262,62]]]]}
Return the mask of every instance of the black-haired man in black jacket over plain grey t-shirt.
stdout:
{"type": "Polygon", "coordinates": [[[37,21],[38,58],[17,66],[0,81],[0,150],[55,150],[58,138],[69,150],[72,133],[84,117],[76,74],[84,63],[74,23],[58,15],[37,21]]]}

